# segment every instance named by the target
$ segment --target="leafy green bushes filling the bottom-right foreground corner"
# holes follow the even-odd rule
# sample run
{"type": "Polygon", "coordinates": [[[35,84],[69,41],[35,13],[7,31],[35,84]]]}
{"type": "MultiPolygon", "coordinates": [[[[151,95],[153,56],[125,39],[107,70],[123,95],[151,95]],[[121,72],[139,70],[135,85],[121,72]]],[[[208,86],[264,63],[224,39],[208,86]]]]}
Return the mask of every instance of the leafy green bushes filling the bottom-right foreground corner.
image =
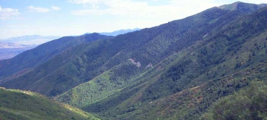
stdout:
{"type": "Polygon", "coordinates": [[[267,119],[267,85],[253,82],[249,88],[215,102],[201,119],[267,119]]]}

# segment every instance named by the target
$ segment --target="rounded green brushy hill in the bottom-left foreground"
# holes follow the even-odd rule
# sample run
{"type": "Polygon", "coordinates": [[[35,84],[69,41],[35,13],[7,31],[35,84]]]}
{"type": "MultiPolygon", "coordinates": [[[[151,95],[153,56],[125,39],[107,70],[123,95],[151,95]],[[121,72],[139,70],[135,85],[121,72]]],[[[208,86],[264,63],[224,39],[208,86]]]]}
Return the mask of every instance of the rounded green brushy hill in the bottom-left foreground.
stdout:
{"type": "Polygon", "coordinates": [[[56,102],[41,94],[5,88],[0,88],[0,114],[3,120],[99,120],[83,110],[56,102]]]}

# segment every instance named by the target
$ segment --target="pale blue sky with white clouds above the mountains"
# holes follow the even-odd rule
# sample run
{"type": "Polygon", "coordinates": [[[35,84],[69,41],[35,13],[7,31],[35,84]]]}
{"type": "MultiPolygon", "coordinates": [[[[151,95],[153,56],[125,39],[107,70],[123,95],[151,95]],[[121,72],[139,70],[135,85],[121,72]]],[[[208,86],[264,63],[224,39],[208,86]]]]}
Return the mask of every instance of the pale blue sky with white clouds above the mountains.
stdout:
{"type": "MultiPolygon", "coordinates": [[[[240,0],[261,4],[267,0],[240,0]]],[[[149,28],[235,0],[0,0],[0,39],[149,28]]]]}

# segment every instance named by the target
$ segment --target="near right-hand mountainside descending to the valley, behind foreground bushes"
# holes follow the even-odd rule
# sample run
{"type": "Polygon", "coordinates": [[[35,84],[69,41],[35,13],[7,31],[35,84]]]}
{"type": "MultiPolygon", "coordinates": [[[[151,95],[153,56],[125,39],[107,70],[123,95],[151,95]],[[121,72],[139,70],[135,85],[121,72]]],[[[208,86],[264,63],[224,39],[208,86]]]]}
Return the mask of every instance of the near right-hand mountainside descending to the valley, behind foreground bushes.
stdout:
{"type": "Polygon", "coordinates": [[[116,66],[57,100],[109,119],[197,119],[220,97],[266,80],[267,8],[243,13],[229,11],[202,41],[140,76],[122,79],[131,69],[116,66]]]}

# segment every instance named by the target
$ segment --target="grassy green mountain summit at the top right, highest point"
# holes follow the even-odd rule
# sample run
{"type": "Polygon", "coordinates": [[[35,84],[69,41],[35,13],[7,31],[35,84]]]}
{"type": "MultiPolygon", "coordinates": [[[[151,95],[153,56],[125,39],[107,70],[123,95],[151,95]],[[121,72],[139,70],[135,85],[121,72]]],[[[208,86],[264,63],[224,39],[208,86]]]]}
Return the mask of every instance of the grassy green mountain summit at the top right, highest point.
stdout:
{"type": "Polygon", "coordinates": [[[224,10],[239,10],[242,12],[251,13],[266,6],[267,4],[250,4],[250,3],[237,1],[232,4],[225,4],[225,5],[219,6],[218,8],[224,9],[224,10]]]}

